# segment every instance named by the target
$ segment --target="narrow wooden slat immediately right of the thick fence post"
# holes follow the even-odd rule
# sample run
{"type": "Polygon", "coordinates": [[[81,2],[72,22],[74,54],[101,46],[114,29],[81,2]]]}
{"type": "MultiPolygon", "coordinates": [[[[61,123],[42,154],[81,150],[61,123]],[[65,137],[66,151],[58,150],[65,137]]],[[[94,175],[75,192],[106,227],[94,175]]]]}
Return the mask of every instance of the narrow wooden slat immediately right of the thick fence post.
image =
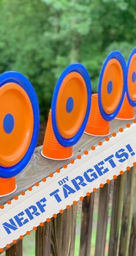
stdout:
{"type": "Polygon", "coordinates": [[[80,256],[82,255],[90,256],[94,200],[95,200],[95,193],[91,193],[90,197],[85,196],[82,202],[80,256]]]}

